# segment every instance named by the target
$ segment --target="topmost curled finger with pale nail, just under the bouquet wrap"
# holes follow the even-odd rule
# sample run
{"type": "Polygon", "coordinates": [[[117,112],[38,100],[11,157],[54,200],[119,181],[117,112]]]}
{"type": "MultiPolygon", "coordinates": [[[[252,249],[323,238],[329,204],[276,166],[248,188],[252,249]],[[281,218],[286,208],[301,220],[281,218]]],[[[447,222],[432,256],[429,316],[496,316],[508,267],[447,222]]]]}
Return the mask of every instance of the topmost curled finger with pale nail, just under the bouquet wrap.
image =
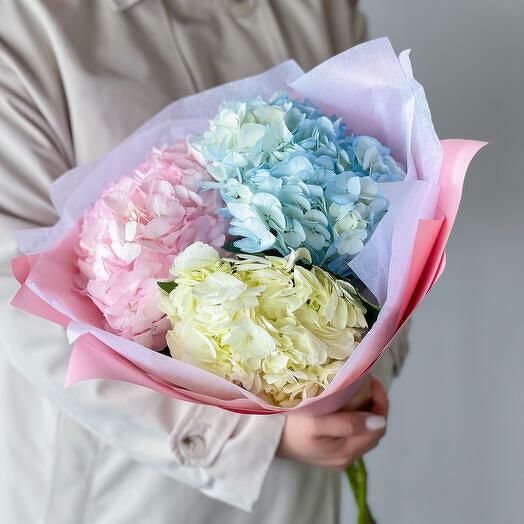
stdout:
{"type": "Polygon", "coordinates": [[[364,411],[337,411],[317,417],[315,426],[317,437],[347,438],[380,431],[385,428],[386,419],[364,411]]]}

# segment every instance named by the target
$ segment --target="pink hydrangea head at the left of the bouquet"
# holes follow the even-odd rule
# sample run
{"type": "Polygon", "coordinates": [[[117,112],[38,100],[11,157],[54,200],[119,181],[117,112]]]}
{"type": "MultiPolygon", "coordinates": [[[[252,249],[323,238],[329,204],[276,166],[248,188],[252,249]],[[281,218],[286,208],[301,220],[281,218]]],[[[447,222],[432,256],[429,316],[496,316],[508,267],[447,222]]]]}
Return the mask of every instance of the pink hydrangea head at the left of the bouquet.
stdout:
{"type": "Polygon", "coordinates": [[[219,195],[199,191],[208,179],[184,141],[152,150],[131,175],[107,187],[84,214],[79,285],[118,335],[162,349],[169,319],[157,306],[158,280],[196,241],[221,247],[227,223],[219,195]]]}

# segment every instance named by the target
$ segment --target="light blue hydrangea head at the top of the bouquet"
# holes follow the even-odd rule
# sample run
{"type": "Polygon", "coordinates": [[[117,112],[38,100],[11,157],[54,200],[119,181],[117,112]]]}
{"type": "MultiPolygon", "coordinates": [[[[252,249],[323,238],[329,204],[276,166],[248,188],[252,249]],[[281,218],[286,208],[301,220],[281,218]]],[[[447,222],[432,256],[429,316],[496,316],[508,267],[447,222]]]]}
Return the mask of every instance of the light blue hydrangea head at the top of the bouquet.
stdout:
{"type": "Polygon", "coordinates": [[[377,183],[405,176],[376,139],[285,92],[223,104],[191,143],[216,180],[206,187],[220,189],[237,248],[306,247],[314,264],[342,276],[387,211],[377,183]]]}

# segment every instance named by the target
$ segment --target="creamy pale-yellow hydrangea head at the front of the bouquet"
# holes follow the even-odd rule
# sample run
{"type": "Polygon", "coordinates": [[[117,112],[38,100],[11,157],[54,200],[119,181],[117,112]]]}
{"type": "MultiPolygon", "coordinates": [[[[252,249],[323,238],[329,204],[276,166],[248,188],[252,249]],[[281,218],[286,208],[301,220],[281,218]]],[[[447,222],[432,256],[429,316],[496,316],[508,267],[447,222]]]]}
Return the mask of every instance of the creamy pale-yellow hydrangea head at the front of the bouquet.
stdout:
{"type": "Polygon", "coordinates": [[[365,309],[348,282],[300,260],[311,261],[304,248],[228,259],[188,247],[161,299],[173,357],[281,406],[320,393],[366,332],[365,309]]]}

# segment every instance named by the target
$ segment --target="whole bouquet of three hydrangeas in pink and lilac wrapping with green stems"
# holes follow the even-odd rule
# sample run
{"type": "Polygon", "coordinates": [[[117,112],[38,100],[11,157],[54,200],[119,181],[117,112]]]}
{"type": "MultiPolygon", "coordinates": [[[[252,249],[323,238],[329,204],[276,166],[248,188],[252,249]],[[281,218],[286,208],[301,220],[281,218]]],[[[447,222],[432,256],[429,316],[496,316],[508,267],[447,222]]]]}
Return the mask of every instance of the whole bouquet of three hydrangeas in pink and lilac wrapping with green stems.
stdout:
{"type": "MultiPolygon", "coordinates": [[[[387,39],[174,102],[53,185],[13,304],[67,328],[67,384],[251,414],[337,410],[441,275],[469,161],[387,39]],[[52,277],[52,278],[50,278],[52,277]]],[[[372,522],[360,461],[348,471],[372,522]]]]}

